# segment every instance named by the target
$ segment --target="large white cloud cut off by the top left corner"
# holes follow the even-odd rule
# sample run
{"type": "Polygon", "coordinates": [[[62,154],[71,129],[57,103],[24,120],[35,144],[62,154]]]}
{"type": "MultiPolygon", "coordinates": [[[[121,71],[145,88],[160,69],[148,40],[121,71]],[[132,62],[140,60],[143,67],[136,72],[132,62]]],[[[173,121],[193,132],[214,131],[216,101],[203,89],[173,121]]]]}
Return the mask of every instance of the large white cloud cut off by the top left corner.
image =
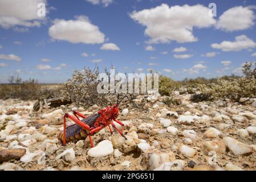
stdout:
{"type": "Polygon", "coordinates": [[[40,2],[47,5],[47,0],[0,0],[0,26],[40,27],[41,22],[46,19],[37,14],[40,2]]]}

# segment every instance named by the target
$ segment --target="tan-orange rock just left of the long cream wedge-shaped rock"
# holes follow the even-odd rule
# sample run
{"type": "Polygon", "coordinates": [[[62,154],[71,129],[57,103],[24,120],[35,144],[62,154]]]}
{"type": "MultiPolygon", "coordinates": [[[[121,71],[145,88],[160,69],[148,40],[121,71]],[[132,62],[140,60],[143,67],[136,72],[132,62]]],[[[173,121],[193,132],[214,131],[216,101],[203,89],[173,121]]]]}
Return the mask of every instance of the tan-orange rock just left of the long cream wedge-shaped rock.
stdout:
{"type": "Polygon", "coordinates": [[[216,151],[217,153],[223,154],[226,152],[225,143],[221,139],[212,141],[206,141],[204,147],[208,151],[216,151]]]}

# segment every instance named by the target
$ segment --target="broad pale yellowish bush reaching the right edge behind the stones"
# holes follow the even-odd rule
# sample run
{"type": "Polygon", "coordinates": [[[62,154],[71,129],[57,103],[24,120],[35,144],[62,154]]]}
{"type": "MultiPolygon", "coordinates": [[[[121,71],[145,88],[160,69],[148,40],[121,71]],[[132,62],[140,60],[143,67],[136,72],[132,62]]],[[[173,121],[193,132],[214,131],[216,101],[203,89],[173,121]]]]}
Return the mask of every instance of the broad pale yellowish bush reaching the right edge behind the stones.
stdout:
{"type": "Polygon", "coordinates": [[[233,101],[239,101],[241,97],[256,97],[256,79],[255,78],[220,78],[217,83],[202,84],[198,89],[209,95],[214,100],[229,98],[233,101]]]}

